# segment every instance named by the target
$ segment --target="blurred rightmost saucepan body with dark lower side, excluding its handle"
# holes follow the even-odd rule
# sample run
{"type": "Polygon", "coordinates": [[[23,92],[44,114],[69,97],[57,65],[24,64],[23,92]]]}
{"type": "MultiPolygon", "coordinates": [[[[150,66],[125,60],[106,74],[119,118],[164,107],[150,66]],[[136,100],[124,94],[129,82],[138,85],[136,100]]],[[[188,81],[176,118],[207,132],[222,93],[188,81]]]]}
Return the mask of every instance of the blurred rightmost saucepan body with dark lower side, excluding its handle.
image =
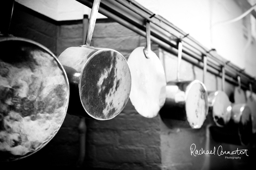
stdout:
{"type": "Polygon", "coordinates": [[[247,145],[252,135],[252,115],[246,104],[235,104],[232,106],[231,120],[238,126],[238,135],[241,144],[247,145]]]}

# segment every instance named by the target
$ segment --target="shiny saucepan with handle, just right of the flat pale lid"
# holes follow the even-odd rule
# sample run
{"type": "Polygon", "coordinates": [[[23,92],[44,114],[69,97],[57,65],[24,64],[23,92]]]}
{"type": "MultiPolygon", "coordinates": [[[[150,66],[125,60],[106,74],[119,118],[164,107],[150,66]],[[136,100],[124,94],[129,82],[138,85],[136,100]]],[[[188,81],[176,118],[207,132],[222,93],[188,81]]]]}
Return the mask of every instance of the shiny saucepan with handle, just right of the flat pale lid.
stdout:
{"type": "Polygon", "coordinates": [[[181,55],[182,43],[179,41],[177,80],[167,83],[166,100],[161,109],[161,117],[187,120],[191,128],[199,129],[208,114],[208,94],[201,81],[180,80],[181,55]]]}

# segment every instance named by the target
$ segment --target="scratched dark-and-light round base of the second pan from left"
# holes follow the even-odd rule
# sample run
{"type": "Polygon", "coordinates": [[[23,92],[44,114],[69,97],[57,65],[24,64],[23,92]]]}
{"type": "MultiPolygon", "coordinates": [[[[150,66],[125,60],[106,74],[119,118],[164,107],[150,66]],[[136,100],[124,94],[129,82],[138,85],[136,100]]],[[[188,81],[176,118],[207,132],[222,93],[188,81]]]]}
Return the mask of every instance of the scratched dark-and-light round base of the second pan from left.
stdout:
{"type": "Polygon", "coordinates": [[[85,111],[97,120],[119,114],[129,99],[131,74],[125,58],[111,49],[101,49],[87,61],[79,91],[85,111]]]}

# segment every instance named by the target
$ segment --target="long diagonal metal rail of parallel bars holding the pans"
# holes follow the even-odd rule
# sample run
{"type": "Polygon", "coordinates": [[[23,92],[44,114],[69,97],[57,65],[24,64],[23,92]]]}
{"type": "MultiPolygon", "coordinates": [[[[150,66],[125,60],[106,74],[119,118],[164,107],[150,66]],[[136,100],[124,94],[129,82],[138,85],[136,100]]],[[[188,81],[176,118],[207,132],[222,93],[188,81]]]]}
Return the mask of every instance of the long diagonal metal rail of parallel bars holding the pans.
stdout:
{"type": "MultiPolygon", "coordinates": [[[[76,0],[83,5],[92,8],[93,0],[76,0]]],[[[174,26],[163,17],[154,15],[151,11],[144,8],[133,0],[101,0],[99,13],[120,23],[146,37],[145,20],[151,21],[151,41],[159,44],[164,50],[177,55],[177,39],[184,37],[182,58],[193,65],[203,68],[203,57],[208,56],[207,71],[221,77],[221,68],[226,64],[226,80],[233,84],[237,83],[237,75],[241,77],[243,89],[249,89],[249,83],[252,83],[253,91],[256,93],[256,80],[246,74],[245,71],[226,59],[220,57],[217,53],[212,53],[181,29],[174,26]],[[153,16],[154,15],[154,16],[153,16]],[[152,18],[150,18],[152,16],[152,18]]]]}

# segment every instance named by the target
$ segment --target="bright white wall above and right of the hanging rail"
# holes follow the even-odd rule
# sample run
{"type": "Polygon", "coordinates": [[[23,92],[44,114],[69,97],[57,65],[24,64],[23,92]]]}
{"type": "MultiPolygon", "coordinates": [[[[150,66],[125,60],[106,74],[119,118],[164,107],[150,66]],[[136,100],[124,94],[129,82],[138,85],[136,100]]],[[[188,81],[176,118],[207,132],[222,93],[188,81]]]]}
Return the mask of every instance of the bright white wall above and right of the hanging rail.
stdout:
{"type": "MultiPolygon", "coordinates": [[[[256,42],[252,39],[251,45],[245,50],[247,39],[244,37],[242,20],[214,25],[245,12],[234,0],[136,1],[189,33],[205,47],[215,48],[220,56],[245,68],[248,74],[256,76],[256,42]]],[[[253,4],[256,1],[250,2],[253,4]]]]}

